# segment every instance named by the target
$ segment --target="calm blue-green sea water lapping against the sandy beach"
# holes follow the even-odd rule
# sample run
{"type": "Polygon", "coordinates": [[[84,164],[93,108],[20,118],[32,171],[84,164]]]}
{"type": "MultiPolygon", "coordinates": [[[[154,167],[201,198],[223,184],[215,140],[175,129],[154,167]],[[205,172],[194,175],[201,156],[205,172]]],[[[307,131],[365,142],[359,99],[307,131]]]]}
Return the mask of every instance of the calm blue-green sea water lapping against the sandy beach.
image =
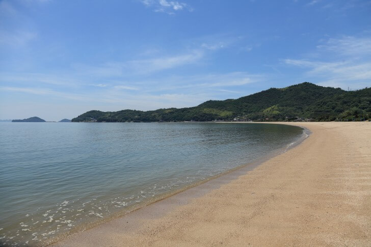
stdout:
{"type": "Polygon", "coordinates": [[[0,123],[0,245],[39,245],[285,149],[299,127],[0,123]]]}

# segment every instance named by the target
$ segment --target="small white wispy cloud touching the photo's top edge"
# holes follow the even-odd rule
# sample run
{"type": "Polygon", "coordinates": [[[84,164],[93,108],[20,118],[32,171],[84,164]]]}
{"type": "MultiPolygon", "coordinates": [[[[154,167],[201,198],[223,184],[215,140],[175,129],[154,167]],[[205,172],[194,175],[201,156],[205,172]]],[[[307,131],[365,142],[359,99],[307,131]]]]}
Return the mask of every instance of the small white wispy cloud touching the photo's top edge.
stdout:
{"type": "Polygon", "coordinates": [[[168,14],[175,14],[174,11],[188,10],[190,12],[193,9],[186,3],[178,1],[167,1],[167,0],[140,0],[146,7],[153,8],[154,12],[164,12],[168,14]]]}

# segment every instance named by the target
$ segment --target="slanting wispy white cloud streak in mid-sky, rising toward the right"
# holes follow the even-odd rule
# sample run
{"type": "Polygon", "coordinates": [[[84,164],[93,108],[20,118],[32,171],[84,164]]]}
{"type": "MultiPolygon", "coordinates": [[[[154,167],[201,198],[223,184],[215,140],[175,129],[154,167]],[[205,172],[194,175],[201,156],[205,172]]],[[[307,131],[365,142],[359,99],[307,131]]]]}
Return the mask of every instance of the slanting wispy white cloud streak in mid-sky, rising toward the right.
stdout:
{"type": "MultiPolygon", "coordinates": [[[[240,37],[227,34],[202,36],[185,41],[177,53],[168,53],[165,48],[144,48],[134,59],[126,61],[108,61],[101,64],[73,64],[76,73],[98,77],[122,77],[127,75],[148,75],[163,70],[170,70],[186,65],[196,65],[207,61],[210,54],[220,49],[235,47],[241,42],[240,37]],[[166,53],[166,54],[165,54],[166,53]]],[[[252,47],[244,47],[250,51],[252,47]]]]}

